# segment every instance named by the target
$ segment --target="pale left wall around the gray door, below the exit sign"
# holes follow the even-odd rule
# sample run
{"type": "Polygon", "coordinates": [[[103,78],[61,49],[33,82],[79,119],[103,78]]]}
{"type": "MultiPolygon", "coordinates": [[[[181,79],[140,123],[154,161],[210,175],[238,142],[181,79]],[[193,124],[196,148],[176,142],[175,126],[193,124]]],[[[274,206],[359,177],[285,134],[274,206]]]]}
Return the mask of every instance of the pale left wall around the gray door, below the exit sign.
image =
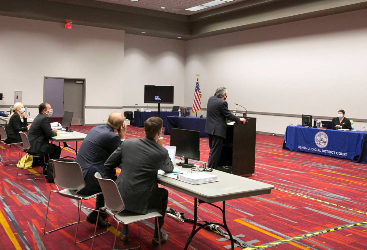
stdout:
{"type": "MultiPolygon", "coordinates": [[[[45,76],[86,79],[86,106],[122,106],[124,31],[0,16],[0,105],[43,101],[45,76]]],[[[90,112],[86,110],[86,114],[90,112]]],[[[103,117],[108,113],[104,113],[103,117]]],[[[86,115],[86,123],[95,116],[86,115]]],[[[102,122],[102,117],[98,118],[102,122]]]]}

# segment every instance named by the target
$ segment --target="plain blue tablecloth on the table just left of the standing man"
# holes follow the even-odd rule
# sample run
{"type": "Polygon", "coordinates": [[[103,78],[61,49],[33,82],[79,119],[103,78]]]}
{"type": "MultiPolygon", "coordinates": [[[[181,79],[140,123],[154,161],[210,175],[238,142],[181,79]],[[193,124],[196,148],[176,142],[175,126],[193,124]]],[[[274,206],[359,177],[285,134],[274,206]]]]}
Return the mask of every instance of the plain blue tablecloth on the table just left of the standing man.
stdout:
{"type": "Polygon", "coordinates": [[[164,128],[164,134],[170,135],[170,128],[182,128],[188,130],[200,131],[200,137],[208,137],[205,133],[206,117],[200,118],[195,116],[167,116],[167,124],[164,128]]]}

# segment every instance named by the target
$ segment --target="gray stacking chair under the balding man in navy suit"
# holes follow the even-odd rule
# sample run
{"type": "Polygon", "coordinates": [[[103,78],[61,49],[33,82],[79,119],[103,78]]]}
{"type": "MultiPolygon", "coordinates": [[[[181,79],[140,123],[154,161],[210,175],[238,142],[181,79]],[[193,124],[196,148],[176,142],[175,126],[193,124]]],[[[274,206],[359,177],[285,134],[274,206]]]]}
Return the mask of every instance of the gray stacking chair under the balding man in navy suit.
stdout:
{"type": "MultiPolygon", "coordinates": [[[[57,190],[51,190],[50,195],[48,196],[48,204],[47,204],[47,210],[46,210],[46,216],[45,216],[45,225],[44,225],[43,233],[48,234],[48,233],[57,231],[59,229],[66,228],[66,227],[69,227],[71,225],[76,224],[75,242],[74,242],[75,244],[79,244],[79,243],[84,242],[88,239],[92,239],[93,236],[91,236],[87,239],[81,240],[79,242],[76,241],[77,234],[78,234],[79,222],[80,222],[81,209],[84,208],[84,209],[97,211],[97,210],[91,209],[89,207],[83,207],[82,202],[83,202],[83,200],[88,200],[88,199],[93,198],[97,195],[100,195],[102,192],[95,193],[93,195],[81,195],[81,194],[78,193],[81,189],[83,189],[86,186],[86,182],[84,181],[83,173],[81,172],[81,167],[80,167],[79,163],[76,163],[76,162],[61,162],[61,161],[58,161],[58,160],[52,160],[52,165],[53,165],[53,170],[54,170],[54,181],[55,181],[57,190]],[[63,188],[63,189],[60,190],[59,188],[63,188]],[[78,203],[78,220],[76,222],[71,223],[71,224],[68,224],[68,225],[65,225],[65,226],[62,226],[62,227],[58,227],[56,229],[53,229],[51,231],[46,232],[47,214],[48,214],[48,207],[50,206],[51,193],[58,193],[59,195],[67,197],[69,199],[77,200],[77,203],[78,203]],[[80,204],[79,204],[79,200],[80,200],[80,204]]],[[[101,235],[101,234],[106,233],[106,232],[108,232],[108,228],[107,228],[106,231],[104,231],[102,233],[99,233],[98,235],[101,235]]],[[[95,235],[95,231],[94,231],[94,235],[95,235]]]]}

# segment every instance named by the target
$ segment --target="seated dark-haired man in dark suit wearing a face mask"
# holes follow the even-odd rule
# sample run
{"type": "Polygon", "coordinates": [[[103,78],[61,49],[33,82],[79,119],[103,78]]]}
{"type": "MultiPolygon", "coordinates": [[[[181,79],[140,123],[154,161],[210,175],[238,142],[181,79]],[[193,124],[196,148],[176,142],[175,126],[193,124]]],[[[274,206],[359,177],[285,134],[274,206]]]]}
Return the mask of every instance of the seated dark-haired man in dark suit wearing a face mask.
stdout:
{"type": "Polygon", "coordinates": [[[58,131],[56,128],[51,129],[49,118],[53,112],[51,105],[45,102],[41,103],[38,106],[38,112],[39,114],[34,118],[28,131],[29,152],[50,155],[50,159],[59,159],[61,148],[48,142],[51,137],[57,135],[58,131]]]}

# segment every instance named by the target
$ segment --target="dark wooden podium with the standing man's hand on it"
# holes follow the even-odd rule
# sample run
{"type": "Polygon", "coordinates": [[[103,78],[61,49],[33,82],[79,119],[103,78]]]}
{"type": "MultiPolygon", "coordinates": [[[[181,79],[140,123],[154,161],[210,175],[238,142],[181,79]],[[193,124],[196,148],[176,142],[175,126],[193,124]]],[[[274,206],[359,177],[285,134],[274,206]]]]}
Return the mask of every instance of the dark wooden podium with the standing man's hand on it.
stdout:
{"type": "MultiPolygon", "coordinates": [[[[251,176],[255,173],[256,118],[247,117],[246,124],[227,124],[219,166],[232,167],[232,174],[251,176]]],[[[218,170],[226,171],[225,167],[218,170]]]]}

